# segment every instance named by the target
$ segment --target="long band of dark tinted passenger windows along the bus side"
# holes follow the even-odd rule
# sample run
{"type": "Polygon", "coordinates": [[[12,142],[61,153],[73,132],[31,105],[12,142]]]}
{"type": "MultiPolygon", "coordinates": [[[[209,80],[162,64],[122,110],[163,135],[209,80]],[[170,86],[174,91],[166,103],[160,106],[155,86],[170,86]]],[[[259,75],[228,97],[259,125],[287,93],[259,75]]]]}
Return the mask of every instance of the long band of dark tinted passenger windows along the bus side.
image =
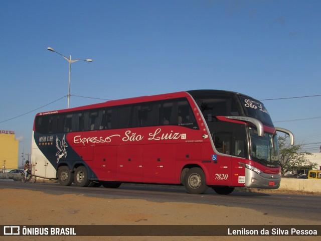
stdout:
{"type": "Polygon", "coordinates": [[[42,134],[162,125],[199,129],[192,108],[186,98],[86,109],[41,115],[36,118],[36,132],[42,134]]]}

